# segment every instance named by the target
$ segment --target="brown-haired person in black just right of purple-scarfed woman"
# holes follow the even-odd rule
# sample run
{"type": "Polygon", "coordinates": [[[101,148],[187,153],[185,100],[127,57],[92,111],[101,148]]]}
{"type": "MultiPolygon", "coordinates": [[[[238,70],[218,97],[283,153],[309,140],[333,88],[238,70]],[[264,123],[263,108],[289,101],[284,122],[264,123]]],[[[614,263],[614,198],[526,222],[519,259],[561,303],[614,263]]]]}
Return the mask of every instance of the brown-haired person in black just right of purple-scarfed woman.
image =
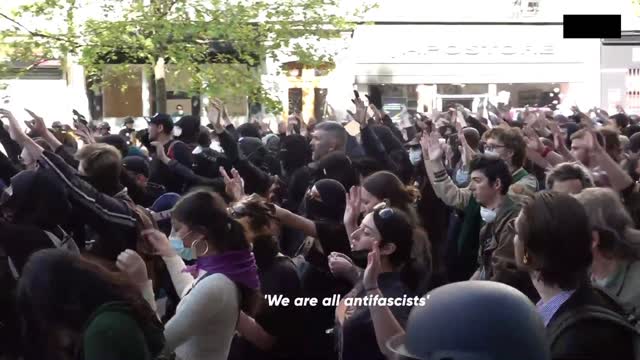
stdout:
{"type": "MultiPolygon", "coordinates": [[[[228,211],[243,226],[252,244],[261,292],[291,301],[302,297],[295,264],[278,246],[280,223],[275,216],[275,206],[254,194],[232,204],[228,211]]],[[[233,339],[228,359],[296,358],[301,350],[301,311],[296,306],[269,306],[263,302],[255,317],[242,313],[239,335],[233,339]]]]}

